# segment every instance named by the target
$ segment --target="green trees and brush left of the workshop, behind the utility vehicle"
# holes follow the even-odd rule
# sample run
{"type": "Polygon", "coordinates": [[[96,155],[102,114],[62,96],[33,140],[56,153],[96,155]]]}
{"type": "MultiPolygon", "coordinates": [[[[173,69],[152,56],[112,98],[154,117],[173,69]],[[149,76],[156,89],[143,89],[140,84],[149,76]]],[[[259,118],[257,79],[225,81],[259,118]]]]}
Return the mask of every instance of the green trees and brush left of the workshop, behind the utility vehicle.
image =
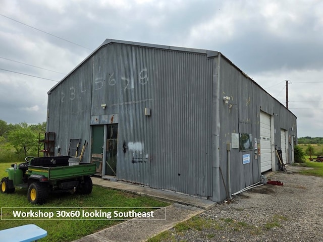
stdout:
{"type": "MultiPolygon", "coordinates": [[[[46,122],[7,124],[0,119],[0,162],[23,161],[26,156],[38,156],[39,134],[46,131],[46,122]]],[[[40,137],[43,139],[43,137],[40,137]]]]}

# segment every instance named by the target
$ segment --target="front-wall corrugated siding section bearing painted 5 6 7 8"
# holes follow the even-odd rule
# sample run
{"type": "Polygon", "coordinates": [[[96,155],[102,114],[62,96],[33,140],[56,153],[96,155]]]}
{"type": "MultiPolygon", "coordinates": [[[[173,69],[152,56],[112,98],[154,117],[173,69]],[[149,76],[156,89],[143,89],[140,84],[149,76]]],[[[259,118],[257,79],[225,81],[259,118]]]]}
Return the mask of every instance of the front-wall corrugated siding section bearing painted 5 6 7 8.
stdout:
{"type": "Polygon", "coordinates": [[[91,114],[119,113],[117,179],[211,196],[211,59],[116,43],[92,59],[91,114]]]}

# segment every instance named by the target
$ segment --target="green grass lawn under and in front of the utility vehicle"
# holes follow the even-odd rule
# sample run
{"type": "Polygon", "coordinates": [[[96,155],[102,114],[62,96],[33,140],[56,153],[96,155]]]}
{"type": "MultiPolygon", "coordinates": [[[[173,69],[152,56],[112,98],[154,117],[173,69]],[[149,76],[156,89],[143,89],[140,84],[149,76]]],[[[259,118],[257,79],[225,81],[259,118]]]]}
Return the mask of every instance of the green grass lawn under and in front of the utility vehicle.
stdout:
{"type": "MultiPolygon", "coordinates": [[[[0,163],[0,178],[8,176],[4,172],[11,163],[0,163]]],[[[0,207],[30,207],[33,211],[43,210],[49,211],[46,208],[51,208],[53,211],[66,210],[68,208],[134,208],[134,207],[165,207],[169,205],[165,202],[156,201],[149,197],[137,196],[134,194],[124,193],[117,190],[93,186],[93,191],[88,195],[79,194],[51,194],[47,202],[43,205],[32,205],[27,200],[27,190],[16,189],[13,194],[0,194],[0,207]],[[55,208],[55,209],[54,209],[55,208]]],[[[17,209],[19,210],[19,209],[17,209]]],[[[152,209],[148,210],[151,211],[152,209]]],[[[28,211],[24,209],[23,211],[28,211]]],[[[30,211],[30,210],[29,210],[30,211]]],[[[93,211],[93,210],[89,210],[93,211]]],[[[126,209],[125,211],[129,211],[126,209]]],[[[2,219],[12,218],[12,212],[8,209],[3,209],[2,219]],[[10,212],[10,214],[9,214],[10,212]]],[[[16,227],[25,224],[36,224],[45,229],[48,235],[39,241],[72,241],[83,237],[87,234],[96,232],[103,228],[115,225],[122,221],[118,220],[0,220],[0,230],[16,227]]]]}

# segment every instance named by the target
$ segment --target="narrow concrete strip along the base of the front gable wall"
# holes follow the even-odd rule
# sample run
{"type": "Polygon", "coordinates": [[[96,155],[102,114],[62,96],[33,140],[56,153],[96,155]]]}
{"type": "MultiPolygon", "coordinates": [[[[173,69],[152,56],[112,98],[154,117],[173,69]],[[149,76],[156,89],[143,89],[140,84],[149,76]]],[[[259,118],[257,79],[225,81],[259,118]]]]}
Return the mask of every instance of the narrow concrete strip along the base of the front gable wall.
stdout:
{"type": "Polygon", "coordinates": [[[216,204],[216,202],[212,202],[206,199],[191,197],[188,195],[168,191],[162,191],[158,189],[145,188],[132,184],[120,183],[116,181],[104,180],[100,177],[92,177],[92,181],[94,185],[108,187],[111,189],[117,189],[120,191],[130,192],[138,195],[149,196],[165,202],[180,203],[188,206],[194,206],[206,210],[210,209],[216,204]]]}

